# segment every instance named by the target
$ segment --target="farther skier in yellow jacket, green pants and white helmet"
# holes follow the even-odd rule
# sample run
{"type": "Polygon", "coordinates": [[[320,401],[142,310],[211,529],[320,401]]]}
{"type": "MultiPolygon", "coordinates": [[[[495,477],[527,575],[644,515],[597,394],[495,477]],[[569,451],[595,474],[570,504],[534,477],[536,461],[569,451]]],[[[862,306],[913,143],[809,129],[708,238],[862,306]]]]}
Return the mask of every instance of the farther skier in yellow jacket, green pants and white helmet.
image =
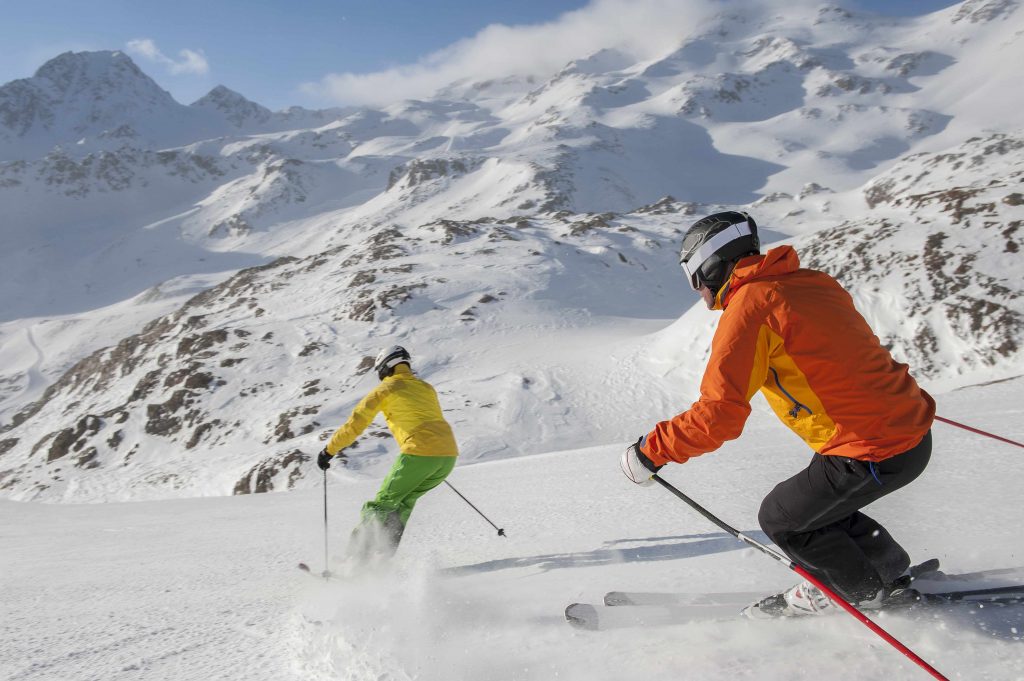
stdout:
{"type": "Polygon", "coordinates": [[[354,442],[381,412],[398,442],[398,458],[377,497],[364,504],[361,521],[352,531],[348,555],[356,561],[369,558],[371,553],[394,553],[416,502],[444,481],[459,456],[437,393],[413,373],[406,348],[395,345],[382,350],[374,369],[380,385],[359,401],[316,458],[322,470],[330,468],[335,457],[345,463],[342,450],[354,442]]]}

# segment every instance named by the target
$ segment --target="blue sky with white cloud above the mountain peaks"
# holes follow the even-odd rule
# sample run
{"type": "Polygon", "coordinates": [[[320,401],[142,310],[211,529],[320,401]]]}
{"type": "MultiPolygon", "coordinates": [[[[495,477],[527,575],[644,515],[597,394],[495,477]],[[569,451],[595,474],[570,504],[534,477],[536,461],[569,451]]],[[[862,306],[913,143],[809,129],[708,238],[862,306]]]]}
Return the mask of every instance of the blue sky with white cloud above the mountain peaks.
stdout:
{"type": "MultiPolygon", "coordinates": [[[[68,50],[124,50],[182,103],[216,85],[273,110],[380,103],[395,94],[429,94],[467,66],[529,56],[547,67],[547,60],[563,58],[582,42],[599,44],[605,35],[613,39],[624,25],[656,33],[659,14],[721,4],[723,0],[0,0],[0,83],[30,77],[68,50]],[[483,49],[484,44],[490,49],[483,49]],[[495,49],[504,45],[507,55],[503,47],[495,49]],[[412,90],[403,91],[411,85],[412,90]]],[[[841,4],[910,15],[954,3],[841,4]]]]}

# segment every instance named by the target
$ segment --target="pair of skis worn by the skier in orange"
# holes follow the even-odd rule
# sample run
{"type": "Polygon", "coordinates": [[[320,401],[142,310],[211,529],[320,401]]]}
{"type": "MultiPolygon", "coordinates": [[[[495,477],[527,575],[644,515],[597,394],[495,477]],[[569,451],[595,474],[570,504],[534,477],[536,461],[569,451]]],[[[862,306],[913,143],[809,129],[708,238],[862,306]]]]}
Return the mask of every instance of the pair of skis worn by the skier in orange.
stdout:
{"type": "MultiPolygon", "coordinates": [[[[615,592],[612,592],[615,593],[615,592]]],[[[622,592],[620,592],[622,593],[622,592]]],[[[752,599],[749,594],[674,594],[689,598],[689,602],[677,600],[673,604],[664,601],[657,604],[631,603],[632,607],[600,608],[590,603],[572,603],[565,608],[565,620],[579,629],[597,631],[624,627],[650,627],[679,625],[689,622],[709,622],[742,618],[740,610],[752,599]],[[698,597],[703,596],[703,600],[698,597]],[[731,601],[731,602],[730,602],[731,601]]],[[[1024,605],[1024,585],[966,589],[939,593],[923,593],[920,601],[904,606],[892,606],[876,612],[916,612],[922,610],[980,611],[983,608],[997,608],[1024,605]]],[[[754,600],[758,596],[755,596],[754,600]]],[[[622,605],[622,603],[616,603],[622,605]]],[[[779,618],[787,620],[792,618],[779,618]]],[[[770,620],[759,620],[768,622],[770,620]]]]}

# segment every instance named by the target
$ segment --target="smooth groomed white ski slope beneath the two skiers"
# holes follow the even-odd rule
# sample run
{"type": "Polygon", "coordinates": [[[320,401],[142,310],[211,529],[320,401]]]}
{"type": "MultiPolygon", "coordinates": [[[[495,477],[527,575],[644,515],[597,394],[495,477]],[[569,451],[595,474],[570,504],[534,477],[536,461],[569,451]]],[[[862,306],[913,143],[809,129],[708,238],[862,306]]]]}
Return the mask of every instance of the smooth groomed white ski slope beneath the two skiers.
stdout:
{"type": "MultiPolygon", "coordinates": [[[[1024,379],[938,396],[940,414],[1024,439],[1024,379]]],[[[744,435],[665,476],[762,537],[760,499],[808,453],[759,408],[744,435]]],[[[654,417],[655,415],[651,415],[654,417]]],[[[1024,458],[936,424],[926,473],[872,507],[916,558],[1024,580],[1016,513],[1024,458]]],[[[922,679],[845,614],[582,632],[571,601],[605,591],[763,591],[791,572],[657,487],[620,473],[624,444],[458,467],[414,516],[393,569],[325,583],[319,488],[99,505],[0,502],[0,677],[57,679],[922,679]]],[[[332,469],[340,553],[373,476],[332,469]]],[[[883,614],[951,679],[1024,678],[1024,608],[975,618],[883,614]]]]}

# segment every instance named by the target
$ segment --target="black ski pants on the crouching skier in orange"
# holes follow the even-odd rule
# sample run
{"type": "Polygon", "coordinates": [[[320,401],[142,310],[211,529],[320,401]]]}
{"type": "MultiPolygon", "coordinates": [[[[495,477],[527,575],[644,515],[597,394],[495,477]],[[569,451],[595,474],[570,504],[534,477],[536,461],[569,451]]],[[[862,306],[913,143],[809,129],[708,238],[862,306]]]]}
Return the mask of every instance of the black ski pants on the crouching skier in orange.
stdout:
{"type": "Polygon", "coordinates": [[[842,596],[869,600],[910,558],[860,509],[921,475],[931,455],[931,431],[913,449],[878,463],[815,454],[765,497],[758,521],[790,558],[842,596]]]}

